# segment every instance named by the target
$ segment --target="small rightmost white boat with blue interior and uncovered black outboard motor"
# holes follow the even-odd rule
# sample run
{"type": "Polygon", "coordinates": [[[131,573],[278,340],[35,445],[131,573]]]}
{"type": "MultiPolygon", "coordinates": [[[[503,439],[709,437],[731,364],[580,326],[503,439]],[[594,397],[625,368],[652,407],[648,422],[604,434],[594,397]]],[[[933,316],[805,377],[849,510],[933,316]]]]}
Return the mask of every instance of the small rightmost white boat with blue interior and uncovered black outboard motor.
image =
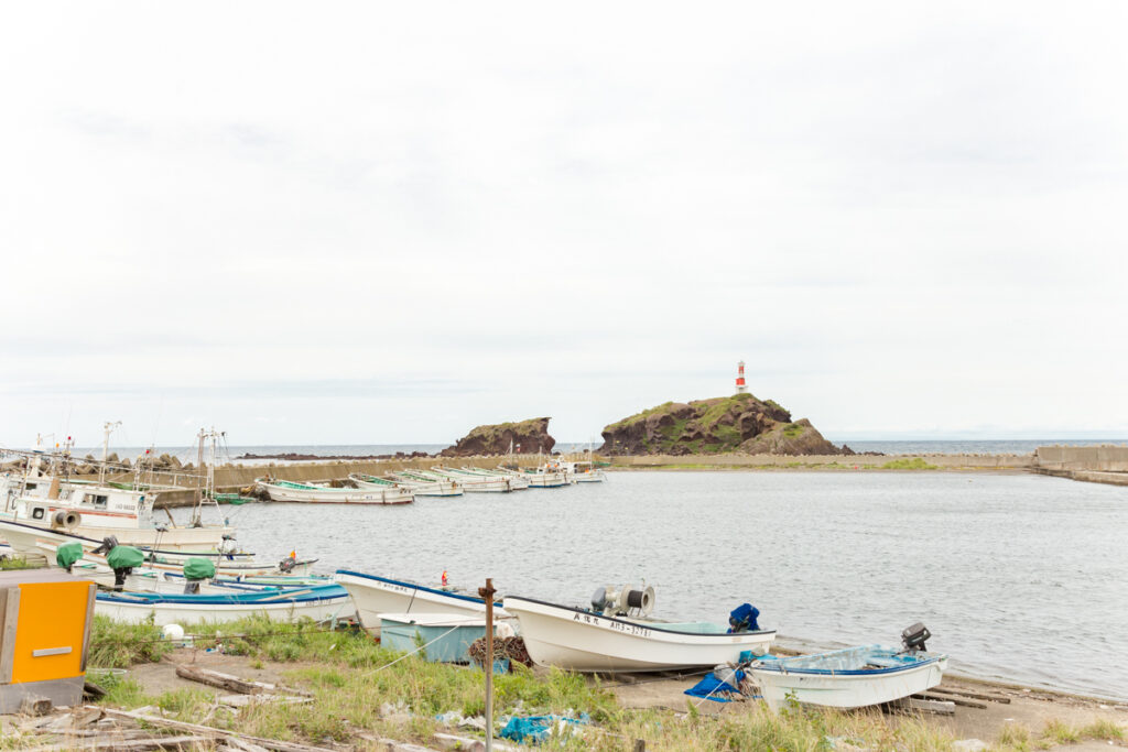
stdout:
{"type": "Polygon", "coordinates": [[[892,702],[937,685],[946,669],[946,655],[869,645],[795,657],[765,656],[747,670],[765,701],[777,710],[788,697],[834,708],[892,702]]]}

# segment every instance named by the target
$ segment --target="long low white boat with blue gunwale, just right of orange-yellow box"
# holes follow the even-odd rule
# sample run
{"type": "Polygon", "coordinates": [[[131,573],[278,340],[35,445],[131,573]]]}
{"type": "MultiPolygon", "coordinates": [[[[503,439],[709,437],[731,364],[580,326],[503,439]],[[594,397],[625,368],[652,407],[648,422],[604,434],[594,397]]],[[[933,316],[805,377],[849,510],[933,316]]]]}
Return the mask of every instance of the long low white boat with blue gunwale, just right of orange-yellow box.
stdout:
{"type": "Polygon", "coordinates": [[[272,621],[344,619],[353,614],[352,599],[337,585],[230,595],[166,595],[98,593],[95,612],[126,623],[191,625],[266,617],[272,621]]]}

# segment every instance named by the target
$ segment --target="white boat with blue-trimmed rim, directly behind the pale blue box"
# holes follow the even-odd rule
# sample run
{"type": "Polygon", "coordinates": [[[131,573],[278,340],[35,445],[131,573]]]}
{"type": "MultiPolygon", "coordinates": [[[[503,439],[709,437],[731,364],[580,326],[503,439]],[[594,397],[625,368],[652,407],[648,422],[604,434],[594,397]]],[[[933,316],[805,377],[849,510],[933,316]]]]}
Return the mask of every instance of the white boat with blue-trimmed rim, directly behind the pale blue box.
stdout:
{"type": "MultiPolygon", "coordinates": [[[[481,619],[486,612],[486,603],[481,598],[449,590],[424,587],[351,569],[337,569],[333,578],[352,595],[356,618],[373,635],[380,632],[380,616],[384,613],[444,613],[481,619]]],[[[494,620],[511,618],[500,603],[495,604],[494,620]]]]}

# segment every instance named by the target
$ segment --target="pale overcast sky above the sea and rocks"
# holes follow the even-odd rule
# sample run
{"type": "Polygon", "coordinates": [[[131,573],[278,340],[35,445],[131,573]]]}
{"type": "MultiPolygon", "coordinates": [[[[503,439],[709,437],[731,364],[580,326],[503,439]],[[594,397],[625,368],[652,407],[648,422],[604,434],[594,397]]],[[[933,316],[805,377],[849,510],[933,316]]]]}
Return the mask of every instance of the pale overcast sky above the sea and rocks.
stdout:
{"type": "Polygon", "coordinates": [[[1128,435],[1128,6],[0,8],[0,444],[1128,435]]]}

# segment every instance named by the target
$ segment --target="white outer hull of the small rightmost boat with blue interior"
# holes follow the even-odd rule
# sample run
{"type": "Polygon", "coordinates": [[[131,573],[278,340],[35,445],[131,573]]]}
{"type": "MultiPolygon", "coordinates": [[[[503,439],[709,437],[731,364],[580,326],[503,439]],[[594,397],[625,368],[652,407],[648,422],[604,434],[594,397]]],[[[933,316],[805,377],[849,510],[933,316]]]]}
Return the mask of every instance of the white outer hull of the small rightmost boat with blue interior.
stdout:
{"type": "Polygon", "coordinates": [[[785,707],[790,698],[804,705],[831,708],[864,708],[892,702],[936,687],[948,669],[948,656],[943,655],[904,667],[878,671],[788,669],[787,662],[786,658],[764,661],[748,670],[773,710],[785,707]]]}

